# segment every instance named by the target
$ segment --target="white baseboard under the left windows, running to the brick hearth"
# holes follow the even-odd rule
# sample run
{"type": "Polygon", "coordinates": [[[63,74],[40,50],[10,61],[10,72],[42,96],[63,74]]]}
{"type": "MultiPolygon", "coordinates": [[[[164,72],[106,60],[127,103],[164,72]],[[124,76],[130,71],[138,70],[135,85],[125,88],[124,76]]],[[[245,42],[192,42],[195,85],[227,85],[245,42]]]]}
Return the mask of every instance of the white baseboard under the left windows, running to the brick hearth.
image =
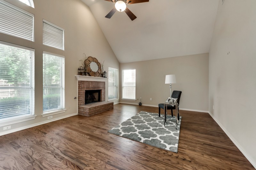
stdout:
{"type": "Polygon", "coordinates": [[[68,116],[58,117],[58,118],[55,118],[55,119],[49,119],[49,120],[46,120],[44,122],[40,122],[40,123],[36,123],[36,124],[30,124],[28,126],[23,126],[23,127],[20,127],[20,128],[10,130],[10,131],[6,131],[6,132],[1,132],[0,136],[7,135],[9,133],[13,133],[13,132],[16,132],[16,131],[21,131],[21,130],[24,130],[24,129],[28,129],[28,128],[31,128],[31,127],[39,126],[41,124],[50,123],[50,122],[53,122],[53,121],[56,121],[56,120],[64,119],[64,118],[75,116],[75,115],[78,115],[78,113],[74,113],[74,114],[71,114],[71,115],[68,115],[68,116]]]}

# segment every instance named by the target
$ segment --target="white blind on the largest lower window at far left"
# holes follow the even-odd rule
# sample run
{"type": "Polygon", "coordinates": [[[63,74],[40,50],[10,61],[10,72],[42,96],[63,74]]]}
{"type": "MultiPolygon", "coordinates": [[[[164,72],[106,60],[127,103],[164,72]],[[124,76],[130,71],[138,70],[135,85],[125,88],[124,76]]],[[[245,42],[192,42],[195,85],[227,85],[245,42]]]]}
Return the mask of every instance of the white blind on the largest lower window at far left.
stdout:
{"type": "Polygon", "coordinates": [[[0,41],[0,120],[34,115],[34,49],[0,41]]]}

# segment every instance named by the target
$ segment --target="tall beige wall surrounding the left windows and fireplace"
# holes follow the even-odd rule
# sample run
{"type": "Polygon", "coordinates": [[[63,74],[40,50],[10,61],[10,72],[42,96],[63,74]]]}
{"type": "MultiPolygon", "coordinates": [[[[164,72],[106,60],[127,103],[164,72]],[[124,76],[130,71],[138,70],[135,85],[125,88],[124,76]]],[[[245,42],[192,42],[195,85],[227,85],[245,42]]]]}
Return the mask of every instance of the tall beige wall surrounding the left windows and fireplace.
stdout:
{"type": "MultiPolygon", "coordinates": [[[[46,123],[47,117],[43,113],[43,51],[65,56],[65,107],[67,111],[53,115],[56,120],[77,113],[77,68],[80,66],[83,53],[104,62],[104,70],[108,67],[119,69],[119,62],[110,48],[108,41],[102,33],[98,23],[90,9],[80,0],[34,0],[35,9],[14,0],[6,0],[35,15],[35,42],[16,38],[0,33],[0,40],[35,49],[35,120],[18,124],[12,124],[12,129],[3,131],[0,127],[0,135],[9,133],[31,125],[46,123]],[[42,45],[43,42],[43,19],[65,29],[65,51],[42,45]]],[[[108,96],[108,83],[106,95],[108,96]]],[[[107,97],[106,97],[107,100],[107,97]]]]}

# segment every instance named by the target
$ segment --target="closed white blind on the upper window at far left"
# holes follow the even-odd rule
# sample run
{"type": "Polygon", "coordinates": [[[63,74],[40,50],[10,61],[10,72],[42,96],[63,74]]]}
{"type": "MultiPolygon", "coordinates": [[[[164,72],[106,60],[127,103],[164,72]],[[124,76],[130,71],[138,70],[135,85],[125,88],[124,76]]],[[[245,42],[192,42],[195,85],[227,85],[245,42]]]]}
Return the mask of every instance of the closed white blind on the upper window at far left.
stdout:
{"type": "Polygon", "coordinates": [[[34,15],[0,0],[0,32],[34,41],[34,15]]]}

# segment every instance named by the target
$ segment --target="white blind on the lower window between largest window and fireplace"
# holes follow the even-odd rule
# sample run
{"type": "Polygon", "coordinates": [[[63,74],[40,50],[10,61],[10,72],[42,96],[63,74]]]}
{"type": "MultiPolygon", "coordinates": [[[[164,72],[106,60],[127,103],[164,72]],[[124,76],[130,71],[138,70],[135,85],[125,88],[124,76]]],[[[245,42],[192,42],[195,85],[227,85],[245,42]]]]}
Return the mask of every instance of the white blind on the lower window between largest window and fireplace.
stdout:
{"type": "Polygon", "coordinates": [[[65,107],[65,58],[43,53],[43,111],[65,107]]]}

